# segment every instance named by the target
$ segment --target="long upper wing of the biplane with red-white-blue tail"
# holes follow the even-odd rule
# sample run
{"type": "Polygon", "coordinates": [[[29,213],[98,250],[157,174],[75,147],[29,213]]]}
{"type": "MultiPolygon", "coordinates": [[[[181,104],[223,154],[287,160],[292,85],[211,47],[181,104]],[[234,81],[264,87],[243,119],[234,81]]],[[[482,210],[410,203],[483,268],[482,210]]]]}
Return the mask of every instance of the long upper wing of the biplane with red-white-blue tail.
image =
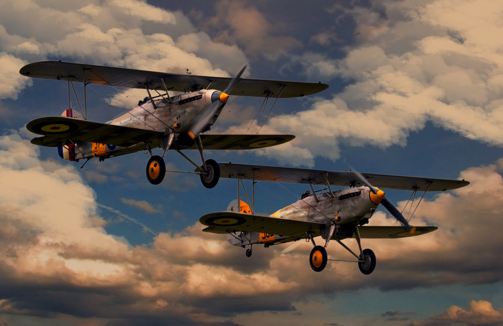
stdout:
{"type": "MultiPolygon", "coordinates": [[[[175,92],[205,89],[208,86],[211,89],[223,91],[231,79],[59,61],[29,63],[22,67],[19,73],[28,77],[57,80],[66,80],[68,76],[71,76],[73,82],[82,83],[84,71],[86,72],[86,83],[139,89],[145,89],[145,84],[148,84],[156,90],[164,90],[162,77],[167,89],[175,92]]],[[[240,78],[234,84],[229,95],[264,97],[266,93],[272,92],[271,96],[276,97],[283,86],[286,87],[280,98],[312,95],[328,88],[327,84],[321,83],[240,78]]]]}

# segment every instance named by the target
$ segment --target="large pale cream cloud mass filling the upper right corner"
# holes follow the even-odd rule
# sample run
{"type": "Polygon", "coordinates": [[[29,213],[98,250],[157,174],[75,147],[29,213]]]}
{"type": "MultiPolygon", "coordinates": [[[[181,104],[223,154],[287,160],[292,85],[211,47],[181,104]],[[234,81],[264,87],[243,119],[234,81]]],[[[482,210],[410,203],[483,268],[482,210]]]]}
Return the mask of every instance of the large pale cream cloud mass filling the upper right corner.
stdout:
{"type": "Polygon", "coordinates": [[[360,33],[345,58],[305,52],[284,68],[300,64],[312,79],[342,77],[350,85],[333,99],[315,100],[310,109],[271,117],[268,124],[295,133],[295,146],[312,156],[332,160],[340,157],[341,144],[404,146],[427,121],[503,146],[501,10],[503,4],[490,0],[345,9],[360,33]]]}

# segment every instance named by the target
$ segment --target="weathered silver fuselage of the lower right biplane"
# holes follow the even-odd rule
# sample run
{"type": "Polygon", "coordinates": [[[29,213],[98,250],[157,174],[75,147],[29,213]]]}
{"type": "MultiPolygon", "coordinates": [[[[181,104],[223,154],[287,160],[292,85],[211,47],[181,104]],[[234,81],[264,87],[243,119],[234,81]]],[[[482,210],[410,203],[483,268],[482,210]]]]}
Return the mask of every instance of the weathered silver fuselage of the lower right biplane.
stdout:
{"type": "MultiPolygon", "coordinates": [[[[334,191],[333,194],[334,198],[331,198],[327,193],[317,193],[318,202],[311,195],[278,210],[270,216],[327,223],[327,230],[332,222],[337,225],[337,228],[342,225],[356,226],[360,220],[371,218],[379,206],[379,204],[374,204],[370,200],[370,188],[368,187],[342,189],[334,191]]],[[[326,233],[321,230],[322,238],[326,238],[326,233]]],[[[305,238],[306,236],[302,237],[305,238]]],[[[254,245],[257,243],[267,245],[268,243],[287,242],[295,239],[297,237],[258,232],[227,234],[227,240],[233,246],[254,245]]]]}

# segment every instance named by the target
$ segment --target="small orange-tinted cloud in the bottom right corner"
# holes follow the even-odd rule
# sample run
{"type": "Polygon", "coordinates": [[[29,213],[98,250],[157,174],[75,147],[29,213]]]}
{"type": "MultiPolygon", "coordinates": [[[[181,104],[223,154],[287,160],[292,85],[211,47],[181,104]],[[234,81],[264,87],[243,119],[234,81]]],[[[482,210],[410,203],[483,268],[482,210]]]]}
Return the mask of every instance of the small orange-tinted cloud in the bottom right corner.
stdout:
{"type": "Polygon", "coordinates": [[[424,321],[412,321],[411,326],[449,326],[460,323],[472,325],[499,325],[503,322],[503,309],[495,310],[492,303],[485,300],[472,300],[465,310],[452,305],[444,314],[430,317],[424,321]]]}

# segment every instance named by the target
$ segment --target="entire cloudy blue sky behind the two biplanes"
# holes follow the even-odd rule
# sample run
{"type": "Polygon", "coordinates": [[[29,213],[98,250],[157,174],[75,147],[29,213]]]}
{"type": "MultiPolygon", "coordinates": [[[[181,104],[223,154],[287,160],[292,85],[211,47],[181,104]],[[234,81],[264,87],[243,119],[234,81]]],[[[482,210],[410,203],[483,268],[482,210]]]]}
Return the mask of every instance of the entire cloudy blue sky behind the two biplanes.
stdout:
{"type": "MultiPolygon", "coordinates": [[[[0,2],[0,325],[502,325],[502,53],[501,1],[0,2]],[[313,272],[307,242],[246,258],[198,222],[235,199],[235,180],[206,189],[166,174],[153,186],[148,154],[79,169],[30,144],[25,125],[67,108],[66,83],[19,69],[60,59],[215,76],[246,63],[245,77],[326,83],[279,101],[261,130],[293,141],[205,157],[470,185],[425,197],[411,223],[437,231],[363,240],[377,257],[369,276],[343,262],[313,272]]],[[[111,120],[144,93],[89,85],[89,118],[111,120]]],[[[211,132],[246,132],[261,102],[231,97],[211,132]]],[[[259,182],[257,212],[305,190],[259,182]]],[[[409,194],[387,196],[400,209],[409,194]]],[[[370,220],[393,224],[382,209],[370,220]]]]}

